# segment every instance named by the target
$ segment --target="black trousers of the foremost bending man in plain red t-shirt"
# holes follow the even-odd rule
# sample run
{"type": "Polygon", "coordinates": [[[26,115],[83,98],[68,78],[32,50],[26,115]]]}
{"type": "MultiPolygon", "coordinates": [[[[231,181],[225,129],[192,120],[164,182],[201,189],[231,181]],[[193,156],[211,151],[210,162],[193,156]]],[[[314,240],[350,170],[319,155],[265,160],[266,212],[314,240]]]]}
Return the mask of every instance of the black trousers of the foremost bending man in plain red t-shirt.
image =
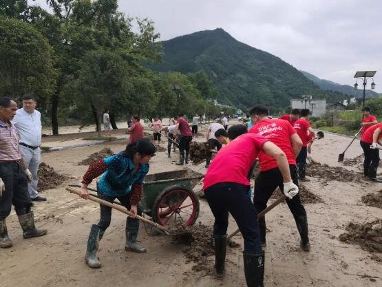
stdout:
{"type": "Polygon", "coordinates": [[[248,197],[248,185],[221,182],[206,189],[205,194],[215,217],[213,234],[226,235],[231,213],[243,235],[244,252],[261,253],[257,213],[251,198],[248,197]]]}

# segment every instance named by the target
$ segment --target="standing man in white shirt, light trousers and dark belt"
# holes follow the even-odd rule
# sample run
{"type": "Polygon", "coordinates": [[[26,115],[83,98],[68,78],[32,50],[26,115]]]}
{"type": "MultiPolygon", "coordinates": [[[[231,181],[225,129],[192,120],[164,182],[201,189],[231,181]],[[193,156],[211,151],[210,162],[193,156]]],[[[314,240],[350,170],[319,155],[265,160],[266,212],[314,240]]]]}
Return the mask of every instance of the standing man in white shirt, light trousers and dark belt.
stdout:
{"type": "Polygon", "coordinates": [[[37,171],[41,161],[41,114],[34,109],[36,98],[32,94],[23,96],[23,107],[16,111],[12,125],[17,128],[20,136],[19,150],[25,165],[32,173],[33,180],[28,184],[30,198],[34,201],[45,201],[37,191],[37,171]]]}

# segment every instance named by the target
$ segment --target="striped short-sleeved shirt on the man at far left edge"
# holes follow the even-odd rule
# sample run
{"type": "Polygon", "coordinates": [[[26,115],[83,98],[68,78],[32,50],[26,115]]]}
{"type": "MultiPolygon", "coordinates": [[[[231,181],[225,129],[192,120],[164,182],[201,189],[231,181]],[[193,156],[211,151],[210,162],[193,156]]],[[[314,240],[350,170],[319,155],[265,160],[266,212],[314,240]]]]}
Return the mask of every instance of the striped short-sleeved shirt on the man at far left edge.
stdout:
{"type": "Polygon", "coordinates": [[[0,120],[0,160],[21,160],[16,127],[0,120]]]}

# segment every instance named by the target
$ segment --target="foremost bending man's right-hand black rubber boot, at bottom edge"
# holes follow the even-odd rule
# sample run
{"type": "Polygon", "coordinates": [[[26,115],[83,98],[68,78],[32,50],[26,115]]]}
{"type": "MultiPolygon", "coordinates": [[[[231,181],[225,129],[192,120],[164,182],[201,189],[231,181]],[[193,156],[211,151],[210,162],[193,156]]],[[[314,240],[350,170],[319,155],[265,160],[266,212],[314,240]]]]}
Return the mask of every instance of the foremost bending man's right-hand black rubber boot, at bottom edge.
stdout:
{"type": "Polygon", "coordinates": [[[264,287],[264,253],[243,253],[246,286],[264,287]]]}

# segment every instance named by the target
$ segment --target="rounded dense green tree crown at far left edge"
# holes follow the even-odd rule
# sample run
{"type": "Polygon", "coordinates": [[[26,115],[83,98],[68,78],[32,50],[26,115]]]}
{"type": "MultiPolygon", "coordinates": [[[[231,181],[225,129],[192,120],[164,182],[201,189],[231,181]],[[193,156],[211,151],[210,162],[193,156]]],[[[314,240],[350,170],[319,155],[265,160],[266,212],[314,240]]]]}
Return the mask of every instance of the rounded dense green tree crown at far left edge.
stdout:
{"type": "Polygon", "coordinates": [[[50,96],[56,83],[53,49],[32,25],[0,18],[0,94],[50,96]]]}

